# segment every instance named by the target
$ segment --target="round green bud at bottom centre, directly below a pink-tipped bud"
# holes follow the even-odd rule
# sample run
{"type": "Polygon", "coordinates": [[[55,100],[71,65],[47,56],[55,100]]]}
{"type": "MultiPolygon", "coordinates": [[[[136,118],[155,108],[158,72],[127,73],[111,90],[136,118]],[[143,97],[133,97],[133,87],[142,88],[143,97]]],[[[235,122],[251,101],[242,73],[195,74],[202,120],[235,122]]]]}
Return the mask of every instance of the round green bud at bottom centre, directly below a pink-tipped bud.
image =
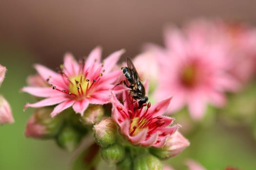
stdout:
{"type": "Polygon", "coordinates": [[[110,145],[107,148],[101,148],[102,158],[109,163],[118,163],[125,156],[124,148],[119,144],[110,145]]]}

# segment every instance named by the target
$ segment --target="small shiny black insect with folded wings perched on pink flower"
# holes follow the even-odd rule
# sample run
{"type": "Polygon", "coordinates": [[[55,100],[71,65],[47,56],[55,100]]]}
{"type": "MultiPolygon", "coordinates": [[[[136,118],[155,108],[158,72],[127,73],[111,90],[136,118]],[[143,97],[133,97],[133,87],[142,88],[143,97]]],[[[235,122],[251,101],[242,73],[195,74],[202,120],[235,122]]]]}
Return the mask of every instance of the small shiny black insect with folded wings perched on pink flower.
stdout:
{"type": "Polygon", "coordinates": [[[139,109],[148,101],[148,97],[145,96],[145,87],[140,82],[138,72],[129,57],[127,57],[127,67],[122,67],[121,70],[130,83],[130,85],[127,85],[126,82],[123,81],[123,84],[131,89],[130,93],[132,94],[133,99],[138,100],[139,109]]]}

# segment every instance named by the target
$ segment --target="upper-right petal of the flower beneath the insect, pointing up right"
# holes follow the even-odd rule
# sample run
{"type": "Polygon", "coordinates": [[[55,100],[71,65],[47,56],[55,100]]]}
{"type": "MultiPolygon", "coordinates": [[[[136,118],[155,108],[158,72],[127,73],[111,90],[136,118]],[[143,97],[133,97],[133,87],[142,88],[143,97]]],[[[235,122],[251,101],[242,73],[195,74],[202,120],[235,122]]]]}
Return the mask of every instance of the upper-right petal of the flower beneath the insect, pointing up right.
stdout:
{"type": "Polygon", "coordinates": [[[154,115],[154,117],[163,115],[169,103],[171,102],[171,99],[172,98],[167,98],[154,104],[149,108],[148,113],[154,115]]]}

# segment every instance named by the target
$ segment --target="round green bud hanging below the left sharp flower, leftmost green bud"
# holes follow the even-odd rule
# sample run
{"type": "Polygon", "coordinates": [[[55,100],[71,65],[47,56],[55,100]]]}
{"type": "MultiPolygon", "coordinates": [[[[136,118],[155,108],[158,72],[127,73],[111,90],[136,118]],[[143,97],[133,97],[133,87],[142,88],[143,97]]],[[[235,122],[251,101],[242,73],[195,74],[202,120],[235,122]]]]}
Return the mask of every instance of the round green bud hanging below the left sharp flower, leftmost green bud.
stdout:
{"type": "Polygon", "coordinates": [[[57,143],[61,148],[72,152],[78,147],[81,138],[82,135],[76,129],[66,125],[57,136],[57,143]]]}

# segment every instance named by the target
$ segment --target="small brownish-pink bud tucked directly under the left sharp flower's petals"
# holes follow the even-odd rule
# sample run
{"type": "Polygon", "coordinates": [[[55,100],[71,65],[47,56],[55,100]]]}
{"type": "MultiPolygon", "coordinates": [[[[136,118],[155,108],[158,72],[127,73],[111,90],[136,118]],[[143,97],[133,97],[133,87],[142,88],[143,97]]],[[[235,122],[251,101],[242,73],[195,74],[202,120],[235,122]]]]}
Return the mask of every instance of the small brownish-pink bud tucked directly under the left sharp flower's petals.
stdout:
{"type": "Polygon", "coordinates": [[[83,124],[90,125],[99,122],[104,114],[102,105],[90,104],[89,107],[84,111],[80,121],[83,124]]]}

